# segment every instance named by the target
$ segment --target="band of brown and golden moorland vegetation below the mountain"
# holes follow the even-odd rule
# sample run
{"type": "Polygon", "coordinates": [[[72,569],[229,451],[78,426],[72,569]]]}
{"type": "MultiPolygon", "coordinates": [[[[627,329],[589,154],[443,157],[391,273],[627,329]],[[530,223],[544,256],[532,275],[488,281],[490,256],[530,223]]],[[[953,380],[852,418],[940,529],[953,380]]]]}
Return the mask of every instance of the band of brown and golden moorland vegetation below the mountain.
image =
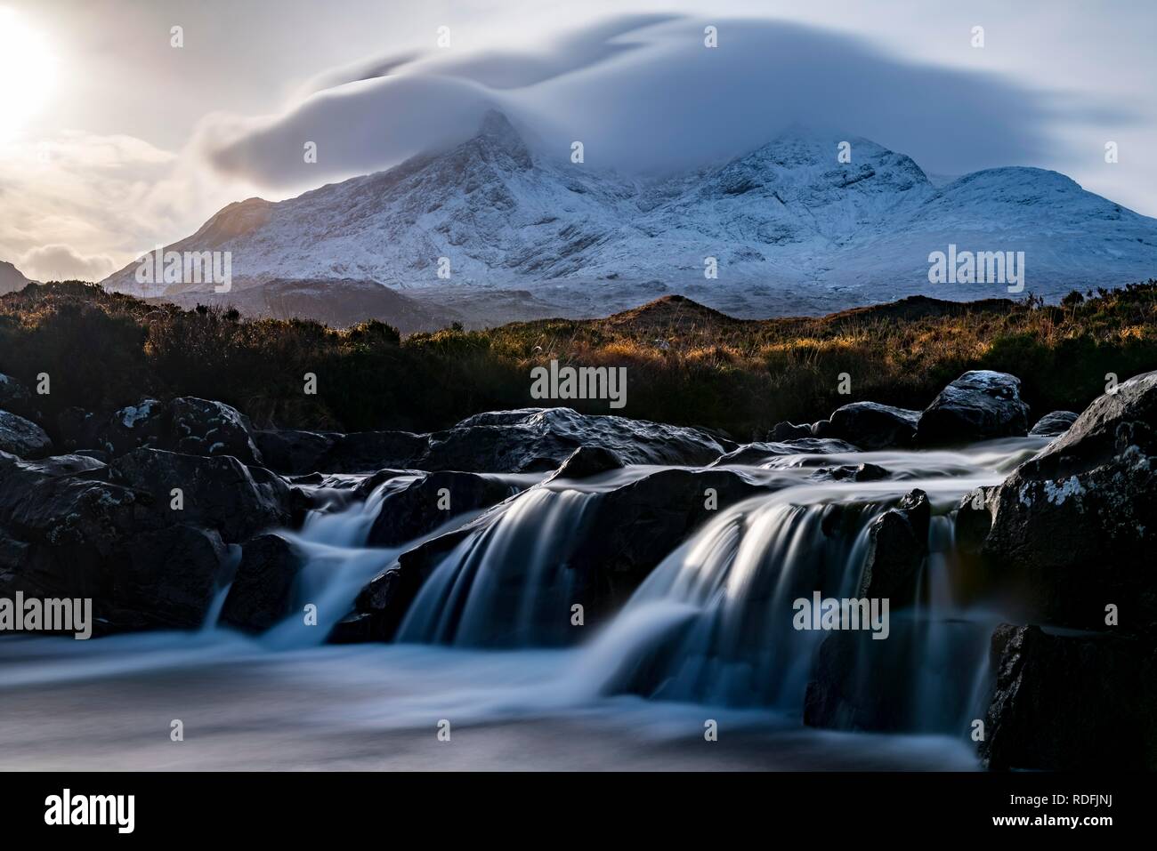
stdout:
{"type": "MultiPolygon", "coordinates": [[[[51,423],[68,407],[106,412],[145,395],[200,395],[258,424],[367,430],[444,428],[481,410],[541,405],[530,369],[627,367],[622,415],[761,438],[778,421],[812,421],[871,399],[920,408],[968,369],[1024,382],[1034,414],[1081,410],[1121,380],[1157,369],[1157,281],[956,304],[913,297],[823,318],[739,320],[681,297],[606,319],[547,319],[488,331],[460,326],[399,339],[368,321],[248,320],[180,310],[80,282],[0,297],[0,371],[35,386],[51,423]],[[303,392],[317,376],[316,395],[303,392]],[[838,393],[848,373],[852,394],[838,393]]],[[[585,413],[605,401],[560,400],[585,413]]],[[[50,429],[51,430],[51,429],[50,429]]]]}

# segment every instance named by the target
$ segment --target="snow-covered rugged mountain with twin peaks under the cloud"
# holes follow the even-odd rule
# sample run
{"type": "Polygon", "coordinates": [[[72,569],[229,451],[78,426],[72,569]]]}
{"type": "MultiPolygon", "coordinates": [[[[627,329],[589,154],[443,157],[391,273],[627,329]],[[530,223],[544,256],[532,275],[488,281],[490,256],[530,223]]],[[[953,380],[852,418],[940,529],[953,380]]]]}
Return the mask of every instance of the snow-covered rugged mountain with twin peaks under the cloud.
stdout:
{"type": "MultiPolygon", "coordinates": [[[[1023,294],[1053,298],[1157,275],[1157,220],[1063,175],[1002,168],[936,186],[867,139],[848,138],[841,163],[841,141],[793,130],[721,166],[643,180],[574,164],[569,150],[532,151],[491,112],[450,150],[277,204],[229,205],[169,249],[231,252],[235,290],[373,281],[467,318],[464,305],[502,291],[509,316],[489,320],[605,314],[665,293],[737,316],[1008,295],[1003,283],[930,283],[929,253],[950,244],[1025,252],[1023,294]]],[[[212,290],[141,284],[135,269],[104,283],[147,297],[212,290]]]]}

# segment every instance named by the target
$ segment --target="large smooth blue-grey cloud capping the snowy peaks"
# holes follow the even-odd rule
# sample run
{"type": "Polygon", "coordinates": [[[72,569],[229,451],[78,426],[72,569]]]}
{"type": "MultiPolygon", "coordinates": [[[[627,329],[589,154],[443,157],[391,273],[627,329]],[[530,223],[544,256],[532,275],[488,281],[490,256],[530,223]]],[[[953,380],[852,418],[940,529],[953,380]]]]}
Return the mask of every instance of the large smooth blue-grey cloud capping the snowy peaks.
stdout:
{"type": "MultiPolygon", "coordinates": [[[[261,118],[212,116],[198,150],[218,171],[275,190],[397,164],[471,135],[495,106],[546,156],[584,143],[589,166],[670,171],[738,156],[784,126],[862,135],[933,171],[1036,164],[1055,151],[1057,92],[914,64],[816,27],[759,20],[621,17],[540,52],[398,54],[315,77],[261,118]],[[317,163],[303,147],[318,146],[317,163]]],[[[1105,108],[1070,96],[1069,113],[1105,108]]]]}

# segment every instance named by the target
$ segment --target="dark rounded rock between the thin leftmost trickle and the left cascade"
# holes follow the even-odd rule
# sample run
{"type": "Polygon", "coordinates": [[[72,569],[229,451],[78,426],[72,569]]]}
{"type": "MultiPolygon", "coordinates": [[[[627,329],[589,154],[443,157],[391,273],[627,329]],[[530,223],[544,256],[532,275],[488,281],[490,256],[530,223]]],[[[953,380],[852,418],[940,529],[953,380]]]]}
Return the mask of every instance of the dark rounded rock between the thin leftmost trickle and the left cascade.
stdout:
{"type": "Polygon", "coordinates": [[[302,560],[280,535],[258,535],[241,548],[241,564],[221,609],[221,623],[264,632],[293,610],[302,560]]]}

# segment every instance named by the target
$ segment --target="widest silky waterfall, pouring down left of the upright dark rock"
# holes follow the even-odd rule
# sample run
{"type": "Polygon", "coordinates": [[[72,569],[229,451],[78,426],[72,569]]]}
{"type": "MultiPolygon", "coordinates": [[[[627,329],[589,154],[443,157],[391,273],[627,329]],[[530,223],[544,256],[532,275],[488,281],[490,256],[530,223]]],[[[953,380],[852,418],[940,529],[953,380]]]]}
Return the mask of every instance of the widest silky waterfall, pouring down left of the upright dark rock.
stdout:
{"type": "Polygon", "coordinates": [[[793,601],[855,593],[868,525],[882,510],[794,504],[784,491],[723,511],[651,572],[600,637],[617,658],[585,666],[591,689],[798,706],[825,634],[796,630],[793,601]],[[838,512],[850,533],[847,520],[840,530],[825,523],[838,512]]]}

